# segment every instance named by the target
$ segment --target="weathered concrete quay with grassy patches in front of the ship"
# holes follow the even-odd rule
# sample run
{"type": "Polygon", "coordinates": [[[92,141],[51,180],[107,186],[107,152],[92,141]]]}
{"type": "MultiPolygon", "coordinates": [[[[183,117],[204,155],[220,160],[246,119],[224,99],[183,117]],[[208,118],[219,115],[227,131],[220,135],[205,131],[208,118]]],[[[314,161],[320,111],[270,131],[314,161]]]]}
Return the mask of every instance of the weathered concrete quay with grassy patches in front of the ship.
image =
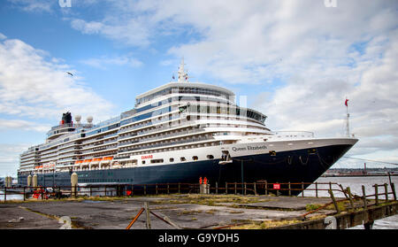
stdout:
{"type": "MultiPolygon", "coordinates": [[[[1,229],[65,228],[60,220],[67,216],[72,228],[126,229],[135,215],[149,203],[149,211],[167,216],[180,228],[212,229],[252,228],[264,222],[297,223],[308,205],[324,205],[330,198],[274,197],[237,195],[172,194],[147,197],[91,197],[63,200],[28,200],[0,204],[1,229]],[[252,227],[249,227],[249,226],[252,227]]],[[[311,217],[321,218],[333,213],[320,210],[311,217]]],[[[174,229],[164,220],[150,214],[151,229],[174,229]]],[[[280,223],[279,223],[280,225],[280,223]]],[[[145,213],[131,229],[147,228],[145,213]]]]}

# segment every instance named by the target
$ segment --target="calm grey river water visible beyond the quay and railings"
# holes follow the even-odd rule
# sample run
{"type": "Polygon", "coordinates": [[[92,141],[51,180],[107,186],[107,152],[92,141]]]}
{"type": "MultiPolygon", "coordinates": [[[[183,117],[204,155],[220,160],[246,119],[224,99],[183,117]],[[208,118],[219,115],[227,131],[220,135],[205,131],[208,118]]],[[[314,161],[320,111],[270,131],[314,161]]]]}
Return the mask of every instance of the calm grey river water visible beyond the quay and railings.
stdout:
{"type": "MultiPolygon", "coordinates": [[[[351,193],[362,196],[362,186],[365,186],[366,194],[374,194],[374,184],[388,184],[388,189],[391,191],[389,187],[389,181],[387,176],[379,176],[379,177],[330,177],[330,178],[318,178],[318,182],[336,182],[343,186],[343,188],[349,187],[351,189],[351,193]]],[[[398,191],[398,176],[392,176],[391,181],[395,184],[395,191],[398,191]]],[[[328,189],[328,185],[318,185],[318,189],[328,189]]],[[[333,187],[333,189],[337,189],[338,187],[333,187]]],[[[315,191],[310,189],[315,189],[315,185],[311,185],[308,189],[304,190],[304,197],[315,197],[315,191]]],[[[384,191],[383,188],[379,188],[379,193],[384,191]]],[[[0,190],[0,194],[3,194],[3,191],[0,190]]],[[[301,196],[301,195],[299,195],[301,196]]],[[[335,197],[344,197],[342,193],[335,193],[335,197]]],[[[318,191],[318,197],[329,197],[329,193],[327,191],[318,191]]],[[[393,197],[390,195],[389,197],[393,197]]],[[[384,197],[381,197],[384,199],[384,197]]],[[[4,196],[0,196],[0,200],[4,200],[4,196]]],[[[21,195],[7,195],[7,200],[23,200],[21,195]]],[[[364,226],[357,226],[355,228],[350,229],[362,229],[364,226]]],[[[373,225],[373,229],[398,229],[398,214],[385,218],[383,220],[376,220],[373,225]]]]}

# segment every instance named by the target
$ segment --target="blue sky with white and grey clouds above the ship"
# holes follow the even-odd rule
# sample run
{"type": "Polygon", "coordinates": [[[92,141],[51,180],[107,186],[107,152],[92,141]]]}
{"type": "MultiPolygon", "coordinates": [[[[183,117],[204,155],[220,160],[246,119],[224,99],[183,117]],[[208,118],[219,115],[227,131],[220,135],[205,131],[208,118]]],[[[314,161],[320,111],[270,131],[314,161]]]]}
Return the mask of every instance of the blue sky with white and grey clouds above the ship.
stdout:
{"type": "Polygon", "coordinates": [[[1,1],[0,176],[63,112],[130,110],[182,57],[191,81],[246,96],[272,130],[345,135],[347,97],[360,140],[347,156],[398,163],[397,12],[391,0],[1,1]]]}

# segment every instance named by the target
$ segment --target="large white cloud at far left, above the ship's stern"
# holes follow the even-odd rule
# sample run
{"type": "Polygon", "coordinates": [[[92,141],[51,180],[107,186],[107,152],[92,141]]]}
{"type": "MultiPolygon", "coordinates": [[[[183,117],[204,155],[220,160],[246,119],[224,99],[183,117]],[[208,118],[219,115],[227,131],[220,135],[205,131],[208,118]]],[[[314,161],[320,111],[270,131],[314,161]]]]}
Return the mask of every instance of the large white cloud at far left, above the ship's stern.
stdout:
{"type": "Polygon", "coordinates": [[[20,40],[0,42],[0,113],[34,120],[58,120],[65,111],[109,117],[112,104],[83,86],[71,66],[57,61],[20,40]]]}

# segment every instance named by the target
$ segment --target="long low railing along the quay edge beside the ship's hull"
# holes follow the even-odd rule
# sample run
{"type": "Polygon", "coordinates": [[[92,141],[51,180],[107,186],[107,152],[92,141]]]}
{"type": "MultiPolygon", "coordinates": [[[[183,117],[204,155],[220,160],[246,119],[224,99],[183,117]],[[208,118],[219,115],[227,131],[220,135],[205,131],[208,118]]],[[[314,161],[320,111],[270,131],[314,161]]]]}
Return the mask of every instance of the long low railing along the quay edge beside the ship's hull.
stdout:
{"type": "MultiPolygon", "coordinates": [[[[204,185],[204,184],[203,184],[204,185]]],[[[203,186],[202,185],[202,186],[203,186]]],[[[199,183],[155,183],[155,184],[88,184],[84,186],[62,187],[11,187],[0,188],[0,198],[7,200],[7,195],[20,195],[23,199],[30,197],[37,199],[63,198],[63,197],[133,197],[161,194],[205,193],[208,194],[235,194],[235,195],[274,195],[274,196],[299,196],[319,197],[320,194],[333,195],[341,193],[348,199],[347,189],[336,182],[214,182],[205,184],[205,190],[201,190],[199,183]],[[315,193],[315,195],[314,195],[315,193]],[[304,195],[305,194],[305,195],[304,195]]],[[[378,204],[381,197],[393,195],[396,200],[394,183],[390,185],[391,192],[387,191],[387,184],[375,184],[375,194],[366,195],[372,197],[378,204]],[[382,192],[380,192],[382,191],[382,192]]],[[[349,189],[349,188],[348,188],[349,189]]],[[[358,197],[354,195],[353,197],[358,197]]]]}

